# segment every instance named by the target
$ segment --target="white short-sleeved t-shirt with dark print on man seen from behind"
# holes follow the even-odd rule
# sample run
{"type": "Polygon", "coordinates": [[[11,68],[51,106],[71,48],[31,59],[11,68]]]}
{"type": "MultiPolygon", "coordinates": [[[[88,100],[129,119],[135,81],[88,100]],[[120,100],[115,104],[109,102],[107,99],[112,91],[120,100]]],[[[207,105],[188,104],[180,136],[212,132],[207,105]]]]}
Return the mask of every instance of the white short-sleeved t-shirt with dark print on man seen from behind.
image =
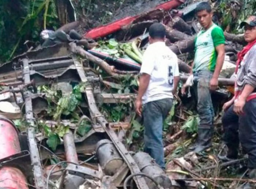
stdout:
{"type": "Polygon", "coordinates": [[[140,73],[149,74],[150,82],[142,103],[173,98],[173,77],[179,76],[178,58],[165,42],[150,44],[142,59],[140,73]]]}

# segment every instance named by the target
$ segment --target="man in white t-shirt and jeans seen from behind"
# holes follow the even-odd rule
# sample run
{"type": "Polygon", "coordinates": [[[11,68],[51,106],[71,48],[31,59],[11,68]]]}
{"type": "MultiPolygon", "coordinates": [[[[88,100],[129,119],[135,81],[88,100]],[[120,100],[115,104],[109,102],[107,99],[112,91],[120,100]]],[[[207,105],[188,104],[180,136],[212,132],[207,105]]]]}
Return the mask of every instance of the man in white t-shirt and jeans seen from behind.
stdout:
{"type": "Polygon", "coordinates": [[[173,93],[179,77],[178,58],[165,45],[165,28],[154,23],[149,28],[149,42],[140,69],[136,113],[143,115],[144,151],[165,168],[162,129],[172,108],[173,93]]]}

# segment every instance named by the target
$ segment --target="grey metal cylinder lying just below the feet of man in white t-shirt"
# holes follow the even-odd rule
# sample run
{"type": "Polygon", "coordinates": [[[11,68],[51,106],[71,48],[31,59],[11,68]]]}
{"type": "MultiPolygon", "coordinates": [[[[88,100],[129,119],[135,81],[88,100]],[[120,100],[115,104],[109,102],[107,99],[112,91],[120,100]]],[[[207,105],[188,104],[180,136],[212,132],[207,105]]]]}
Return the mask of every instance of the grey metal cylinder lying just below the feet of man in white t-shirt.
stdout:
{"type": "MultiPolygon", "coordinates": [[[[172,182],[159,165],[150,157],[149,154],[138,152],[133,156],[133,159],[139,166],[142,173],[148,174],[155,179],[163,188],[171,188],[172,182]]],[[[145,178],[150,189],[155,188],[155,184],[148,178],[145,178]]]]}

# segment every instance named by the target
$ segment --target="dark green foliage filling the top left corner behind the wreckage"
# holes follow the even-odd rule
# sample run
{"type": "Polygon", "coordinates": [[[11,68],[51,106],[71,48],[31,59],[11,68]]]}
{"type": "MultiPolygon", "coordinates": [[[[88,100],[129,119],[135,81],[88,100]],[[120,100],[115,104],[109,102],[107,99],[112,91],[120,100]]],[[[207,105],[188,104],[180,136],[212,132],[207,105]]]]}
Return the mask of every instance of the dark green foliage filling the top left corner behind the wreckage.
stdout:
{"type": "Polygon", "coordinates": [[[44,22],[49,29],[59,27],[54,0],[1,0],[1,62],[26,50],[23,45],[26,40],[38,41],[44,22]]]}

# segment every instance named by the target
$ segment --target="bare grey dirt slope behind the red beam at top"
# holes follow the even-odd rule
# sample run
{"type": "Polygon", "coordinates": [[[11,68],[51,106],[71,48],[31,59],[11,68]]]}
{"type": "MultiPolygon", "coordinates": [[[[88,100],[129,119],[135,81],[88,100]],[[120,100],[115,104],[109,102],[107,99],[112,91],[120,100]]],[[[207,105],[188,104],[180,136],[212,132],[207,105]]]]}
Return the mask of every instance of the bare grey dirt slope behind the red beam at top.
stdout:
{"type": "Polygon", "coordinates": [[[74,1],[78,19],[84,23],[83,28],[89,30],[102,24],[134,16],[164,3],[164,0],[94,0],[74,1]]]}

